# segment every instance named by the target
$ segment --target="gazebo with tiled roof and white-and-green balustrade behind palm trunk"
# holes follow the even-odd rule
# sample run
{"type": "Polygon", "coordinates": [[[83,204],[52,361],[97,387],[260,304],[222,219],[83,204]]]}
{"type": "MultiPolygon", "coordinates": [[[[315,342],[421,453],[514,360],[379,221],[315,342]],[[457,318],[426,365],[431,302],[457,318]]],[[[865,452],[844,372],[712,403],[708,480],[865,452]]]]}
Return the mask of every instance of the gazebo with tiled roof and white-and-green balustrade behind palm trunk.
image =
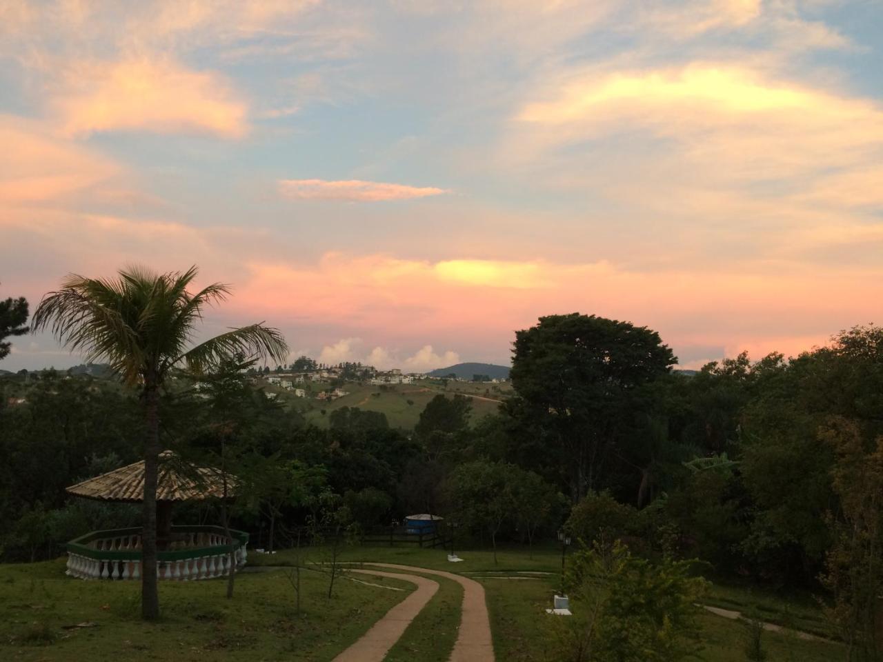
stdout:
{"type": "MultiPolygon", "coordinates": [[[[232,485],[228,484],[228,495],[232,485]]],[[[137,503],[144,500],[144,462],[129,464],[71,485],[67,492],[86,499],[137,503]]],[[[176,501],[223,495],[221,472],[183,463],[173,452],[160,454],[156,485],[156,575],[192,581],[228,575],[245,565],[248,534],[221,526],[172,526],[176,501]],[[231,557],[230,546],[234,553],[231,557]]],[[[67,544],[67,574],[81,579],[140,579],[141,529],[92,531],[67,544]]]]}

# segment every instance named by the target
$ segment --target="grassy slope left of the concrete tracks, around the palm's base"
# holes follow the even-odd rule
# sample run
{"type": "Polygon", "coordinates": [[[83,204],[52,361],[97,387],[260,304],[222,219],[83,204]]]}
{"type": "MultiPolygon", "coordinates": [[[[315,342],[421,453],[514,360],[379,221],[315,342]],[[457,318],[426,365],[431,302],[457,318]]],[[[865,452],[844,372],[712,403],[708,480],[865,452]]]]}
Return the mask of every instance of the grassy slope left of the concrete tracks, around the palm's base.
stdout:
{"type": "Polygon", "coordinates": [[[232,600],[223,597],[224,580],[160,583],[163,618],[147,624],[139,620],[138,583],[71,579],[64,560],[0,566],[0,659],[319,662],[334,658],[406,595],[343,581],[328,600],[323,575],[306,572],[301,581],[299,617],[281,572],[238,575],[232,600]],[[63,628],[84,621],[97,625],[63,628]]]}

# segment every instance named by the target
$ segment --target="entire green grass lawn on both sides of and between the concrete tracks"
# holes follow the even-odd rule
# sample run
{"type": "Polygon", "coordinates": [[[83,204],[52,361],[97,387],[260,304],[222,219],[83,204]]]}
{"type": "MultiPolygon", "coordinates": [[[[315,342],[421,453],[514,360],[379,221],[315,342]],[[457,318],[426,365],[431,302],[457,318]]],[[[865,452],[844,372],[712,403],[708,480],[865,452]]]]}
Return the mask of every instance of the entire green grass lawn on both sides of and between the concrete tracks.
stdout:
{"type": "MultiPolygon", "coordinates": [[[[524,547],[502,549],[494,564],[487,550],[459,552],[462,563],[450,563],[442,549],[358,547],[343,559],[400,563],[457,572],[484,585],[494,648],[501,662],[556,662],[552,624],[545,613],[559,581],[560,549],[541,546],[533,558],[524,547]],[[533,579],[506,576],[537,572],[533,579]]],[[[321,553],[307,551],[310,558],[321,553]]],[[[284,566],[294,556],[250,554],[254,565],[284,566]]],[[[294,592],[287,569],[243,573],[236,597],[223,598],[224,582],[161,583],[162,621],[139,619],[140,586],[127,582],[83,582],[64,575],[64,560],[0,566],[0,659],[89,660],[138,658],[155,660],[329,660],[355,641],[391,606],[407,595],[347,580],[336,584],[335,598],[324,597],[325,575],[303,571],[303,613],[294,613],[294,592]],[[94,628],[64,629],[94,622],[94,628]]],[[[419,574],[419,573],[417,573],[419,574]]],[[[411,591],[410,583],[353,575],[411,591]]],[[[462,599],[460,586],[428,575],[440,589],[390,651],[390,662],[443,662],[457,636],[462,599]]],[[[517,575],[526,576],[526,575],[517,575]]],[[[826,631],[818,606],[810,599],[784,598],[740,586],[714,585],[706,603],[748,612],[764,621],[788,622],[808,631],[826,631]]],[[[711,613],[700,613],[705,662],[742,662],[744,628],[711,613]]],[[[840,644],[806,642],[793,636],[764,635],[769,662],[822,662],[843,659],[840,644]]]]}

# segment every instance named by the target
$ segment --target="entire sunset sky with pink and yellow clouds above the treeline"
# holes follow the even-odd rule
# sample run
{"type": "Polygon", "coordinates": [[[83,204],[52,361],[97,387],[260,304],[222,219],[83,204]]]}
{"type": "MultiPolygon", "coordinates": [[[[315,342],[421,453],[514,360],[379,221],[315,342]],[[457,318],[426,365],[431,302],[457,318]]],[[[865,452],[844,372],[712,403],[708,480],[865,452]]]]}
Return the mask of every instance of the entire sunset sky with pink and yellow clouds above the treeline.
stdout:
{"type": "Polygon", "coordinates": [[[0,297],[196,264],[207,336],[292,357],[508,364],[584,312],[695,368],[883,317],[881,0],[0,0],[0,150],[0,297]]]}

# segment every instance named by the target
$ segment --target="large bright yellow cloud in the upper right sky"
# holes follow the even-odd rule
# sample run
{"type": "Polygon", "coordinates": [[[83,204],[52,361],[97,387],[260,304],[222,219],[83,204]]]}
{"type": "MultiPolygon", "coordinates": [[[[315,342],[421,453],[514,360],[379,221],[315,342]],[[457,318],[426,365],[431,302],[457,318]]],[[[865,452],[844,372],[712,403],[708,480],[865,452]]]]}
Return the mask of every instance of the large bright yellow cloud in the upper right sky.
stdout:
{"type": "MultiPolygon", "coordinates": [[[[614,164],[631,160],[647,169],[661,163],[662,177],[679,172],[683,179],[692,171],[698,186],[716,182],[732,189],[751,180],[866,167],[883,153],[878,103],[774,79],[747,66],[695,62],[571,71],[537,94],[546,98],[517,113],[501,159],[529,163],[551,155],[585,167],[580,147],[591,144],[595,154],[616,148],[614,164]],[[643,142],[640,152],[636,133],[643,142]]],[[[566,167],[570,162],[558,164],[565,177],[573,172],[566,167]]],[[[619,184],[630,181],[648,184],[619,177],[619,184]]]]}

